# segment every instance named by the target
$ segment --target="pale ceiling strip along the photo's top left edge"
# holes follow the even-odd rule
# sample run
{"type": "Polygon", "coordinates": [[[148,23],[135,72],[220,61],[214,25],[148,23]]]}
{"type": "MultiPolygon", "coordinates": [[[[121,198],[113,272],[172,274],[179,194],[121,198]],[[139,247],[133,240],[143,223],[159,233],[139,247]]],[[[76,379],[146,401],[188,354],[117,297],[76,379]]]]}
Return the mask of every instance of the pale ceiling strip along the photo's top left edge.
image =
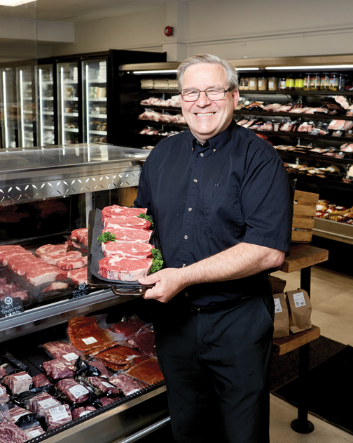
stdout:
{"type": "Polygon", "coordinates": [[[78,23],[185,1],[192,0],[36,0],[21,6],[0,6],[0,17],[78,23]]]}

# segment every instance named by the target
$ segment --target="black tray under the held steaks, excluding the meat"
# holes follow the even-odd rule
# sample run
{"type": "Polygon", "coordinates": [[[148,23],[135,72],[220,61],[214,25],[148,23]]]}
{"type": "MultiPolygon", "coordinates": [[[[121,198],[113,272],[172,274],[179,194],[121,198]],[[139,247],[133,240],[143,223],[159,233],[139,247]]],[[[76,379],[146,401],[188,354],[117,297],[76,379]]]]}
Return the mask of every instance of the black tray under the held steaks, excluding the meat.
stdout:
{"type": "MultiPolygon", "coordinates": [[[[98,262],[104,258],[104,253],[96,240],[97,237],[102,234],[102,230],[102,211],[99,209],[94,209],[90,211],[88,218],[88,284],[93,287],[111,289],[111,291],[118,296],[143,296],[146,290],[153,286],[142,285],[137,281],[122,282],[117,280],[109,280],[99,275],[98,262]]],[[[151,244],[153,244],[155,248],[160,249],[160,242],[156,227],[153,229],[151,244]]]]}

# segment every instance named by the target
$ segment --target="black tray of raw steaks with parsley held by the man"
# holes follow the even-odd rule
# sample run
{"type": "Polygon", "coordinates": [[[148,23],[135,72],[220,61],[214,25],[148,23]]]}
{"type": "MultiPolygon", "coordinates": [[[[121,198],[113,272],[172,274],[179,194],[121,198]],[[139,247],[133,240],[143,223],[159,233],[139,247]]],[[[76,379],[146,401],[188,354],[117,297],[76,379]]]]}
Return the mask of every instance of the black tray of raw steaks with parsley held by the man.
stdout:
{"type": "Polygon", "coordinates": [[[118,205],[90,211],[87,275],[91,286],[110,288],[121,296],[141,296],[152,287],[138,282],[162,267],[158,231],[146,213],[145,208],[118,205]]]}

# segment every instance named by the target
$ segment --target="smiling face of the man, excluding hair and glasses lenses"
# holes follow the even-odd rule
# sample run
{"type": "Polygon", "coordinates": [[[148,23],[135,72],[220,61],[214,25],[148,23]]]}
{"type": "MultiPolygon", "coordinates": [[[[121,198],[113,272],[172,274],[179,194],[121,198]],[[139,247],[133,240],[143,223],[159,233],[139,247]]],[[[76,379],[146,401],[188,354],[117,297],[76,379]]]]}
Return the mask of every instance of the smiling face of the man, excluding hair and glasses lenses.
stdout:
{"type": "MultiPolygon", "coordinates": [[[[186,68],[182,79],[183,89],[228,88],[227,73],[221,65],[202,63],[186,68]]],[[[195,102],[181,99],[181,109],[191,132],[200,143],[224,131],[233,119],[239,92],[226,92],[223,100],[209,100],[205,92],[195,102]]]]}

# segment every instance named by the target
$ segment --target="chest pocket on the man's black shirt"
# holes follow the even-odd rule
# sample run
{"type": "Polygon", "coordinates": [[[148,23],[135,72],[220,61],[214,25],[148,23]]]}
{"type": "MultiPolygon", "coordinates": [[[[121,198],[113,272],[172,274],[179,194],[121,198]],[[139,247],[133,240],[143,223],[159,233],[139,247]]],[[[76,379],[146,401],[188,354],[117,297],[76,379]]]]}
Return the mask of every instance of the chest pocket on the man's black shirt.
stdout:
{"type": "Polygon", "coordinates": [[[205,230],[209,235],[227,239],[243,229],[240,190],[237,186],[207,186],[204,197],[205,230]]]}

